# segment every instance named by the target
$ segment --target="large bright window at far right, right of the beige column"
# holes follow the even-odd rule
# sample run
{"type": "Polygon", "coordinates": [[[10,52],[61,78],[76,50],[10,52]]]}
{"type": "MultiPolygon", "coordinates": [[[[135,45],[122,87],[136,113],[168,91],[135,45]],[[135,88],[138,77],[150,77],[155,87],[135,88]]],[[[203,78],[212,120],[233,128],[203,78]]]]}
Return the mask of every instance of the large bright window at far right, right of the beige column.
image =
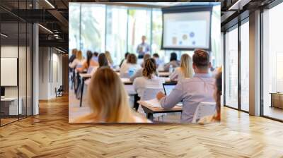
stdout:
{"type": "Polygon", "coordinates": [[[262,13],[263,115],[283,120],[283,3],[262,13]]]}

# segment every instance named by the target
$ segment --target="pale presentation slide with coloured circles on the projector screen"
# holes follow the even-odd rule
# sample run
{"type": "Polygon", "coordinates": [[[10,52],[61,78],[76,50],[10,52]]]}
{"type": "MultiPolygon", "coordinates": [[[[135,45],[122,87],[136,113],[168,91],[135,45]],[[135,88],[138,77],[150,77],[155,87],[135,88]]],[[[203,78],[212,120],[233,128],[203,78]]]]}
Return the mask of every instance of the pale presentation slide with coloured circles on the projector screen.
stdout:
{"type": "Polygon", "coordinates": [[[210,11],[163,14],[163,49],[209,49],[210,11]]]}

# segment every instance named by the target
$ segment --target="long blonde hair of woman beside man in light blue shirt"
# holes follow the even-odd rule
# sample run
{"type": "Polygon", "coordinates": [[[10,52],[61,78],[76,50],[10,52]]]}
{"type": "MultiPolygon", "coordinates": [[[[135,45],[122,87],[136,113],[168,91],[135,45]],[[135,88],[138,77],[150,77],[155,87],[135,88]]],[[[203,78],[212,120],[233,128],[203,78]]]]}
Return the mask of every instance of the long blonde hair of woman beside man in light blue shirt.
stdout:
{"type": "Polygon", "coordinates": [[[188,54],[181,56],[181,71],[185,78],[192,78],[192,58],[188,54]]]}

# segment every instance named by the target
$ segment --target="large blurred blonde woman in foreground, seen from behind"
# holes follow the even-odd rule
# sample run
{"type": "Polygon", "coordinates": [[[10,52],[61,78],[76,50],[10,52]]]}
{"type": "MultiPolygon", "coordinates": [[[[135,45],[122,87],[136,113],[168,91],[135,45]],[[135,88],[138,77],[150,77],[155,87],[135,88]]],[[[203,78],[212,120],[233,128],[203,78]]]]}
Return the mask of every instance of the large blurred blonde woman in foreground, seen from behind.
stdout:
{"type": "Polygon", "coordinates": [[[129,107],[128,95],[117,73],[109,67],[98,68],[88,87],[91,114],[76,122],[83,123],[145,123],[129,107]]]}

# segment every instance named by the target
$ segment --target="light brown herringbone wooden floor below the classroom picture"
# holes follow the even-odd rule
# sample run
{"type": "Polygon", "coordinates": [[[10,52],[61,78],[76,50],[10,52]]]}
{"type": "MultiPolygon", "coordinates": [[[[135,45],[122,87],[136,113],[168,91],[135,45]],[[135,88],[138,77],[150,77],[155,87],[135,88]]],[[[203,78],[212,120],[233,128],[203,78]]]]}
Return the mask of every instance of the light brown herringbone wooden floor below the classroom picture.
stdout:
{"type": "Polygon", "coordinates": [[[221,123],[68,123],[68,98],[0,128],[0,157],[283,157],[283,123],[222,109],[221,123]]]}

